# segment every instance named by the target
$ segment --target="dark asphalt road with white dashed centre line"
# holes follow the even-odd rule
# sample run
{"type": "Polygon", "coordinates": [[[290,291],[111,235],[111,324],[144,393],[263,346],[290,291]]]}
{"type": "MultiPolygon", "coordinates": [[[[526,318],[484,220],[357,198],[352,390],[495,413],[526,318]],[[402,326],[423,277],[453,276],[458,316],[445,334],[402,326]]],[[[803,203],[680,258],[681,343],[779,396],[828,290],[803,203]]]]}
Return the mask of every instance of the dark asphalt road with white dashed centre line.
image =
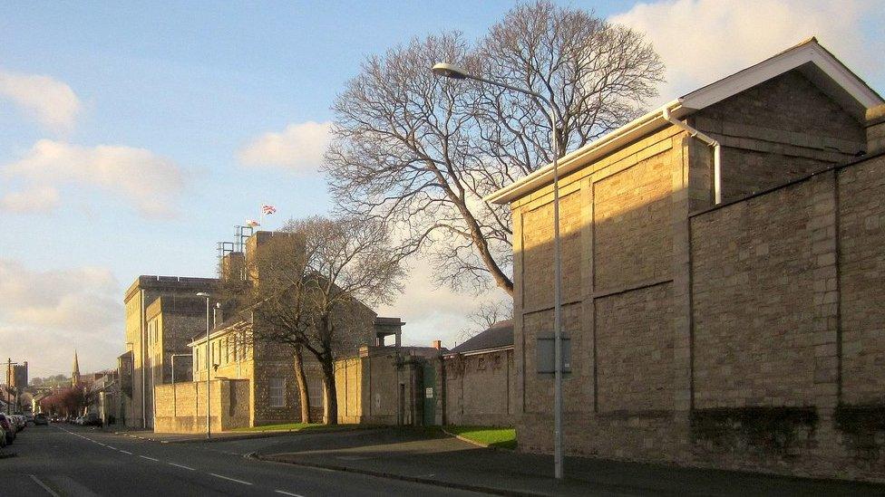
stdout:
{"type": "MultiPolygon", "coordinates": [[[[28,426],[0,454],[0,495],[476,495],[255,461],[223,444],[159,444],[73,425],[28,426]]],[[[237,451],[239,452],[239,451],[237,451]]]]}

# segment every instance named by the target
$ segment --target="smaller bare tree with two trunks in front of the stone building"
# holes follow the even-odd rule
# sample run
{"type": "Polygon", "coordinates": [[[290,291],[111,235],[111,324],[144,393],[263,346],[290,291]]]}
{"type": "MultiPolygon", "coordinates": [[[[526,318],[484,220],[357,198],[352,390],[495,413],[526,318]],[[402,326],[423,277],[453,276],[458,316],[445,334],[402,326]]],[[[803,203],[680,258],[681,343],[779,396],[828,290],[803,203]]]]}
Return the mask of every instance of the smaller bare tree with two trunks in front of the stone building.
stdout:
{"type": "Polygon", "coordinates": [[[337,423],[335,361],[374,343],[374,312],[402,291],[402,256],[384,225],[355,217],[292,220],[249,256],[253,346],[295,350],[302,417],[308,418],[303,351],[319,362],[324,418],[337,423]]]}

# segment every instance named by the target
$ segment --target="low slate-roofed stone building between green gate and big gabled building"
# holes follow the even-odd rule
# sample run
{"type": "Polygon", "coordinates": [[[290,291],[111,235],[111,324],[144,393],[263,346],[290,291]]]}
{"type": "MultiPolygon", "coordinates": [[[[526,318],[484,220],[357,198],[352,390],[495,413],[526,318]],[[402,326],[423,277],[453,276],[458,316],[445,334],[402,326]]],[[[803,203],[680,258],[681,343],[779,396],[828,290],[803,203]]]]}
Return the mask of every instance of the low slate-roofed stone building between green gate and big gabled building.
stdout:
{"type": "Polygon", "coordinates": [[[439,424],[514,425],[512,320],[496,323],[442,357],[437,372],[443,385],[439,424]]]}

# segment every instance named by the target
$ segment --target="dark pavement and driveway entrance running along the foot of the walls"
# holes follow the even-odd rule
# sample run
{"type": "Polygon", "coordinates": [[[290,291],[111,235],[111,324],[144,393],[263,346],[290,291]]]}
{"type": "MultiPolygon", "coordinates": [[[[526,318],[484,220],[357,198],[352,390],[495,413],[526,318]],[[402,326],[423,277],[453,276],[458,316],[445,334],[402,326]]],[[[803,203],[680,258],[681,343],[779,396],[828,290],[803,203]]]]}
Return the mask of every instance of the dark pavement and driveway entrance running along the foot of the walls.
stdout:
{"type": "Polygon", "coordinates": [[[789,478],[482,448],[424,430],[376,429],[224,444],[265,461],[502,495],[885,495],[885,485],[789,478]]]}

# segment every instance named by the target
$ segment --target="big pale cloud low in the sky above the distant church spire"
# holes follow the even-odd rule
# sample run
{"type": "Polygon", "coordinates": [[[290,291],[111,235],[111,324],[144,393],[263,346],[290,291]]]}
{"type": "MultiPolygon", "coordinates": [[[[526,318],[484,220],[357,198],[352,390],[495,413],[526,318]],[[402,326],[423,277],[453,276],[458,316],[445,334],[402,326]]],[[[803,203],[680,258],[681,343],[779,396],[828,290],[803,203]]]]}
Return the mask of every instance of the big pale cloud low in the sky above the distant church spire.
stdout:
{"type": "Polygon", "coordinates": [[[30,376],[111,368],[122,349],[121,289],[106,268],[33,270],[0,259],[0,341],[30,376]]]}

